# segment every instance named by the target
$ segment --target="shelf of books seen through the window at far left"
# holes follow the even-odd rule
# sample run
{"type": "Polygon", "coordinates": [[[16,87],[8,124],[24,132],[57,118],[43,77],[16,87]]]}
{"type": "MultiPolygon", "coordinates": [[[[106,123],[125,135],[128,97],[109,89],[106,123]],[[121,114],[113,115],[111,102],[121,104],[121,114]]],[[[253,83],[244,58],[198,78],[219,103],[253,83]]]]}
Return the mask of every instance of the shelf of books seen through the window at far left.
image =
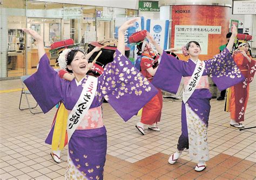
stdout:
{"type": "Polygon", "coordinates": [[[8,29],[8,52],[22,52],[24,40],[24,32],[21,29],[8,29]]]}

